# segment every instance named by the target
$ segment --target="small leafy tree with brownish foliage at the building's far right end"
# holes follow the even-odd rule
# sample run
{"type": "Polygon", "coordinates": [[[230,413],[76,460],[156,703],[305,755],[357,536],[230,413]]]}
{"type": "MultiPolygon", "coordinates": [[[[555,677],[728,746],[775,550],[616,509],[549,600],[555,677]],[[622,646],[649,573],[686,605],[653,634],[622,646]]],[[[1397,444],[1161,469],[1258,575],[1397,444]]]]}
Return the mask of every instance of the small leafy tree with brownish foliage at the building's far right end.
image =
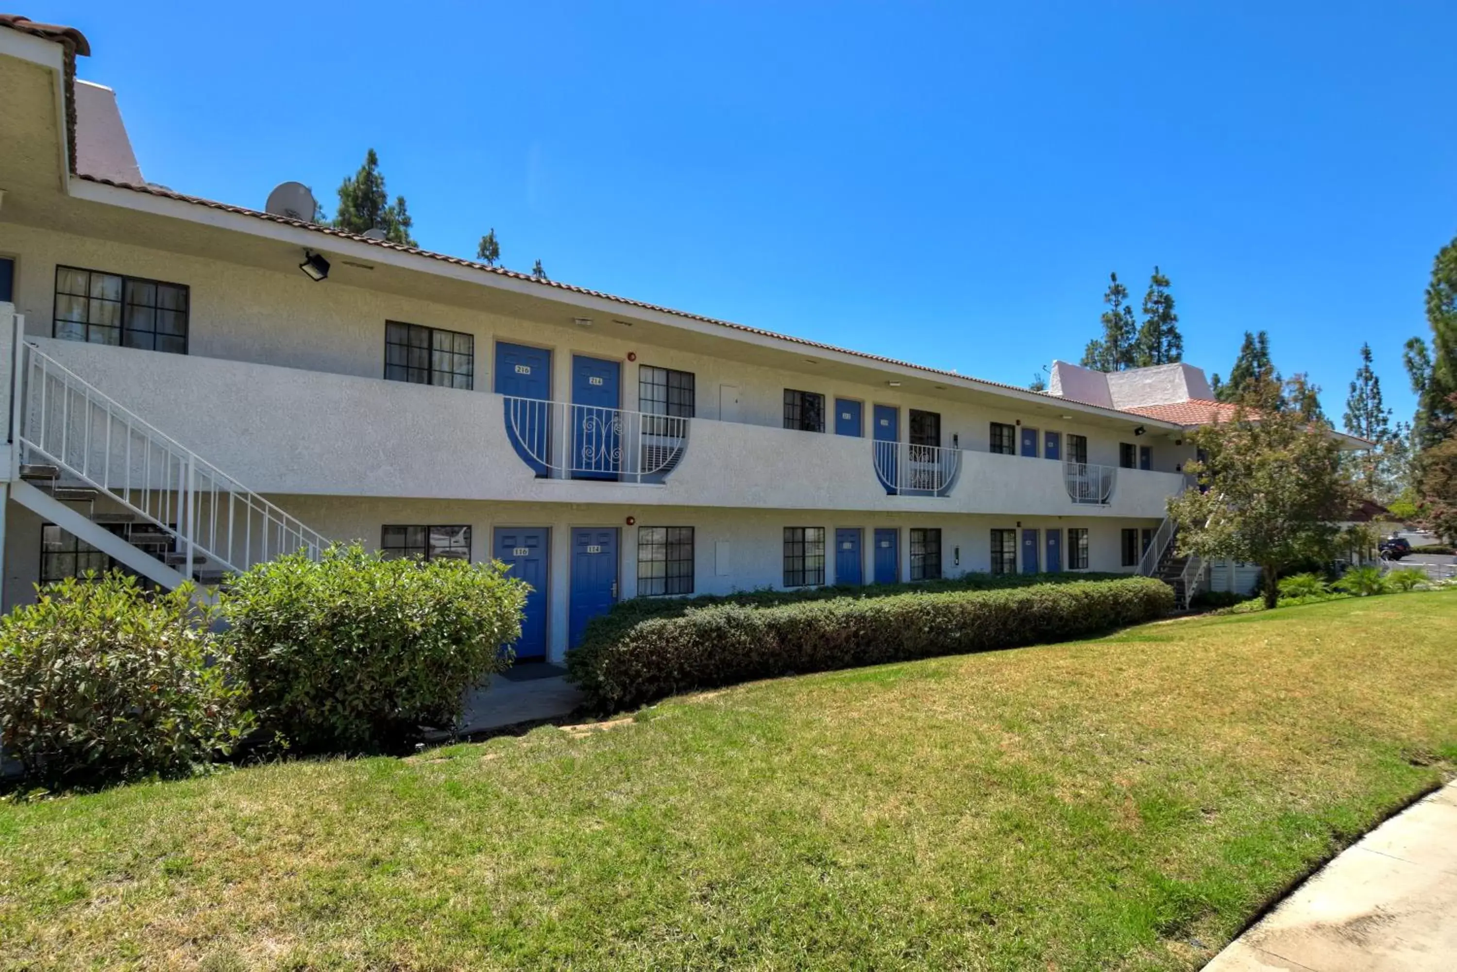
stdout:
{"type": "Polygon", "coordinates": [[[1201,488],[1171,498],[1169,516],[1180,554],[1259,564],[1273,606],[1279,571],[1330,554],[1355,493],[1330,426],[1303,415],[1301,377],[1244,388],[1230,421],[1190,436],[1202,459],[1185,469],[1201,488]]]}

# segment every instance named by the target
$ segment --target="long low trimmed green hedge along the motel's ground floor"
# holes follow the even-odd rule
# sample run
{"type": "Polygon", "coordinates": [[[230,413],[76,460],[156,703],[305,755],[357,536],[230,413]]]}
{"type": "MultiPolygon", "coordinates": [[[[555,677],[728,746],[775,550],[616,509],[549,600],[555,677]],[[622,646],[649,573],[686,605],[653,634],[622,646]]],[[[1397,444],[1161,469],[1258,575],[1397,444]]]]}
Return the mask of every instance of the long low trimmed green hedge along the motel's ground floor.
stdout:
{"type": "MultiPolygon", "coordinates": [[[[627,605],[624,605],[627,606],[627,605]]],[[[643,616],[627,606],[594,619],[567,656],[567,676],[600,708],[694,688],[1059,641],[1173,611],[1148,577],[833,597],[750,606],[688,606],[643,616]]]]}

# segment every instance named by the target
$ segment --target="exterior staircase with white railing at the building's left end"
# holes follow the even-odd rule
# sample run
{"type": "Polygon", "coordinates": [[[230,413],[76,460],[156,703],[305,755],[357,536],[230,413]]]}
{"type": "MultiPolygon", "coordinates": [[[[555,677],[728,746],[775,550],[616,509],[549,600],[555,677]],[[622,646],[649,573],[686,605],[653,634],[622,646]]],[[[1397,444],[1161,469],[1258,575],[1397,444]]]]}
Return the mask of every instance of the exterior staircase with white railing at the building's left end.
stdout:
{"type": "Polygon", "coordinates": [[[15,321],[10,498],[169,589],[329,546],[26,341],[15,321]]]}

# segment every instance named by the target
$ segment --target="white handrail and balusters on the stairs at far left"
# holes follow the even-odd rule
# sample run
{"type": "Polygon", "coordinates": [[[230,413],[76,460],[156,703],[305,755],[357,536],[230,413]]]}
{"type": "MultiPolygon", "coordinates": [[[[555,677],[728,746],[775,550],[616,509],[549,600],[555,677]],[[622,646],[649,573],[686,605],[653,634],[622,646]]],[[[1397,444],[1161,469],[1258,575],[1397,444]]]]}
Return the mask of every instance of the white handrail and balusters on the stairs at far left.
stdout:
{"type": "MultiPolygon", "coordinates": [[[[223,472],[216,465],[213,465],[207,459],[201,458],[194,450],[188,449],[186,446],[184,446],[182,443],[179,443],[176,439],[173,439],[172,436],[166,434],[165,431],[162,431],[160,428],[157,428],[156,426],[153,426],[150,421],[147,421],[141,415],[136,414],[134,411],[131,411],[130,408],[127,408],[125,405],[122,405],[121,402],[118,402],[117,399],[114,399],[111,395],[108,395],[106,392],[101,391],[99,388],[96,388],[95,385],[92,385],[90,382],[87,382],[85,377],[82,377],[76,372],[73,372],[71,369],[68,369],[64,364],[61,364],[57,358],[54,358],[52,356],[50,356],[44,350],[41,350],[41,347],[35,341],[23,340],[23,337],[22,337],[23,335],[23,326],[25,326],[23,325],[23,318],[20,315],[16,315],[16,338],[17,340],[16,340],[16,364],[15,364],[15,377],[13,377],[13,382],[15,382],[15,392],[13,392],[13,395],[15,395],[15,398],[13,398],[15,407],[13,407],[12,420],[10,420],[12,421],[12,428],[13,428],[12,436],[13,436],[13,442],[15,442],[15,450],[13,450],[15,458],[13,458],[13,462],[16,465],[16,471],[19,469],[20,449],[22,449],[22,446],[25,449],[34,450],[34,452],[45,456],[47,459],[55,462],[58,466],[64,466],[76,478],[82,479],[83,482],[86,482],[87,485],[96,488],[96,490],[101,490],[101,491],[106,493],[115,501],[121,503],[127,509],[130,509],[134,513],[146,517],[147,520],[150,520],[156,526],[162,528],[163,530],[166,530],[166,532],[172,533],[173,536],[176,536],[179,541],[185,542],[188,545],[188,551],[186,551],[188,552],[188,565],[191,565],[192,561],[194,561],[194,549],[201,549],[207,557],[216,560],[221,567],[226,567],[227,570],[232,570],[235,573],[239,571],[239,570],[246,570],[251,565],[251,563],[258,563],[258,560],[267,560],[267,557],[268,557],[268,532],[267,530],[270,529],[270,525],[272,525],[272,523],[277,523],[278,530],[280,530],[278,532],[280,542],[274,548],[274,554],[278,554],[278,552],[293,552],[293,551],[281,551],[281,546],[288,542],[287,538],[290,538],[290,536],[296,536],[297,538],[297,546],[294,549],[305,549],[312,560],[318,560],[322,555],[322,552],[332,544],[332,541],[329,541],[326,536],[323,536],[318,530],[306,526],[302,520],[299,520],[293,514],[287,513],[286,510],[283,510],[281,507],[278,507],[272,501],[270,501],[270,500],[264,498],[262,495],[254,493],[252,490],[249,490],[248,487],[245,487],[239,479],[236,479],[235,477],[223,472]],[[22,357],[23,357],[23,361],[22,361],[22,357]],[[41,379],[42,379],[42,382],[41,382],[41,392],[39,392],[41,393],[39,409],[41,409],[42,421],[44,421],[44,412],[45,412],[45,401],[44,401],[45,399],[45,379],[51,377],[51,376],[55,376],[61,382],[63,388],[66,388],[66,389],[76,389],[76,391],[79,391],[82,393],[82,396],[92,407],[103,408],[108,418],[119,420],[121,423],[124,423],[124,426],[125,426],[125,428],[128,431],[140,433],[140,436],[143,437],[143,440],[156,443],[165,452],[173,453],[173,456],[179,460],[178,482],[176,482],[175,488],[176,488],[179,497],[185,497],[185,498],[181,498],[179,503],[176,504],[175,512],[179,514],[179,522],[178,522],[178,525],[175,528],[170,523],[166,522],[168,517],[157,516],[150,509],[140,507],[140,506],[137,506],[137,503],[134,503],[131,500],[130,494],[133,491],[136,491],[138,487],[133,487],[128,482],[127,487],[124,488],[124,491],[121,494],[117,493],[117,488],[114,488],[111,485],[109,478],[108,478],[109,477],[109,456],[108,456],[106,474],[103,474],[102,481],[98,481],[95,477],[90,475],[90,468],[87,465],[89,459],[90,459],[90,442],[89,442],[89,439],[87,439],[87,443],[86,443],[86,455],[83,458],[82,468],[76,468],[76,463],[73,463],[64,455],[64,452],[66,452],[66,449],[64,449],[64,442],[66,442],[64,434],[66,434],[66,430],[64,428],[63,428],[63,447],[60,450],[63,455],[55,455],[51,449],[47,447],[47,443],[44,442],[44,437],[45,437],[44,424],[42,424],[42,428],[41,428],[41,442],[36,442],[35,439],[32,439],[32,437],[29,437],[26,434],[28,433],[28,426],[29,426],[29,418],[31,418],[31,408],[29,408],[29,404],[28,404],[28,393],[31,392],[31,377],[32,377],[31,372],[35,370],[35,363],[36,361],[39,361],[39,372],[41,372],[41,379]],[[25,388],[22,388],[22,382],[25,383],[25,388]],[[213,520],[214,522],[211,525],[213,526],[213,536],[211,536],[213,542],[210,542],[210,544],[200,542],[200,538],[198,538],[197,516],[200,513],[200,506],[201,506],[201,494],[195,490],[195,481],[197,481],[198,474],[201,474],[207,481],[210,481],[213,484],[211,488],[210,488],[210,493],[211,493],[211,495],[214,498],[214,504],[213,504],[213,507],[210,507],[210,513],[213,514],[213,520]],[[245,560],[249,560],[251,563],[245,563],[245,564],[239,565],[239,564],[233,563],[229,557],[224,557],[224,555],[221,555],[217,551],[217,536],[216,536],[216,533],[217,533],[217,529],[216,529],[217,528],[217,523],[216,523],[217,504],[216,504],[216,498],[220,494],[226,494],[230,498],[236,497],[237,500],[242,500],[242,503],[246,507],[246,513],[249,514],[249,517],[252,516],[254,512],[258,512],[258,514],[261,517],[264,517],[262,523],[261,523],[261,529],[264,532],[261,533],[262,539],[261,539],[261,548],[259,548],[262,555],[258,560],[252,560],[251,558],[251,551],[252,551],[251,536],[245,536],[245,544],[246,544],[245,549],[249,554],[249,557],[245,557],[245,560]]],[[[66,421],[64,417],[63,417],[63,421],[66,421]]],[[[111,427],[108,426],[108,434],[109,434],[109,431],[111,431],[111,427]]],[[[86,434],[89,436],[89,433],[90,433],[90,426],[87,423],[86,434]]],[[[130,446],[130,442],[128,442],[128,446],[130,446]]],[[[109,447],[109,443],[108,443],[108,447],[109,447]]],[[[150,453],[149,453],[149,458],[150,458],[150,453]]],[[[130,453],[128,453],[128,459],[127,460],[128,460],[128,463],[131,462],[130,453]]],[[[150,487],[150,472],[152,471],[147,469],[146,475],[149,477],[149,481],[147,481],[147,484],[144,487],[140,487],[141,490],[150,490],[152,488],[150,487]]],[[[170,475],[170,465],[168,466],[168,469],[165,469],[162,472],[162,475],[163,477],[170,475]]],[[[130,468],[128,468],[128,479],[130,479],[130,468]]],[[[166,488],[172,490],[173,487],[169,484],[166,488]]],[[[168,506],[165,509],[168,512],[173,510],[173,507],[170,506],[170,501],[168,503],[168,506]]],[[[230,509],[229,510],[230,516],[232,516],[232,512],[233,510],[230,509]]],[[[248,529],[251,530],[251,528],[252,528],[252,522],[249,519],[248,529]]],[[[233,539],[233,536],[232,536],[232,523],[229,523],[227,542],[232,544],[232,539],[233,539]]]]}

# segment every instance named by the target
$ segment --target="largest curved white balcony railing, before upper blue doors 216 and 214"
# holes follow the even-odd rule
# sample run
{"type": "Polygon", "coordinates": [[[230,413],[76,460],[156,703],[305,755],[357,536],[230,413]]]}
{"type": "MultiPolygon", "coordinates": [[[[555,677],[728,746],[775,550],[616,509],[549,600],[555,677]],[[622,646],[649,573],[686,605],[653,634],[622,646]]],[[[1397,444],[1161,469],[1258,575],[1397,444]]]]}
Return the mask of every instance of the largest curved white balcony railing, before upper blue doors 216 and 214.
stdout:
{"type": "Polygon", "coordinates": [[[688,418],[503,396],[506,434],[548,479],[661,482],[688,449],[688,418]]]}

